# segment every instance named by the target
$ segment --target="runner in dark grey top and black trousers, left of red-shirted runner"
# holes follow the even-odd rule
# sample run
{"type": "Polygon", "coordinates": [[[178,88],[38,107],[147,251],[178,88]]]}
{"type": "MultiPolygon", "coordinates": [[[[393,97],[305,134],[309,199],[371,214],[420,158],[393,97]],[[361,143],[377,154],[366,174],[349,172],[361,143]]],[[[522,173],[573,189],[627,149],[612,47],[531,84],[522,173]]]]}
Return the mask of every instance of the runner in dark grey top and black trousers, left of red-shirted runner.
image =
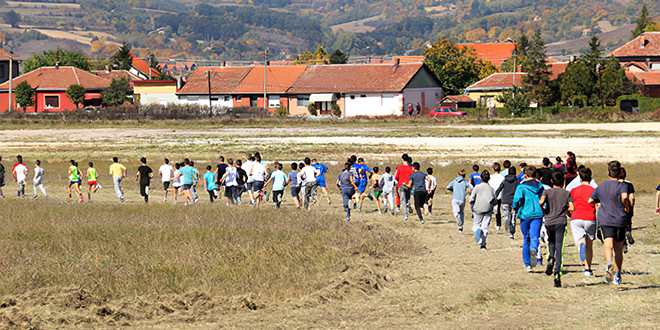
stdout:
{"type": "Polygon", "coordinates": [[[545,213],[545,228],[548,232],[548,265],[545,274],[554,274],[555,288],[561,288],[561,271],[564,267],[564,245],[568,222],[566,211],[573,212],[571,194],[563,189],[564,171],[552,173],[552,188],[543,190],[539,205],[545,213]],[[546,204],[547,202],[547,204],[546,204]],[[553,271],[554,268],[554,271],[553,271]]]}

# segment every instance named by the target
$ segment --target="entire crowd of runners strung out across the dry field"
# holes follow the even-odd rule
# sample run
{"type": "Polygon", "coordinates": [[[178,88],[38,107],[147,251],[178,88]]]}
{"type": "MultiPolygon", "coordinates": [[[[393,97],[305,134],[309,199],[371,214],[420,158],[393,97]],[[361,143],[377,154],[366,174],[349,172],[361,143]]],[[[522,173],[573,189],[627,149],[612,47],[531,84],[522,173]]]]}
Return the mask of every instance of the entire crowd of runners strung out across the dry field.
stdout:
{"type": "MultiPolygon", "coordinates": [[[[0,161],[2,158],[0,157],[0,161]]],[[[140,159],[140,166],[135,173],[139,183],[140,195],[149,202],[149,187],[155,177],[154,171],[147,165],[147,159],[140,159]]],[[[570,219],[571,231],[583,266],[585,276],[593,276],[593,241],[603,242],[607,260],[605,277],[607,282],[620,284],[623,253],[628,244],[633,244],[632,217],[635,206],[635,189],[626,181],[626,170],[618,161],[608,164],[609,179],[597,184],[592,178],[591,169],[577,166],[575,154],[567,153],[566,162],[560,157],[555,163],[550,159],[542,160],[539,168],[520,163],[519,169],[510,161],[502,165],[493,163],[492,172],[480,172],[478,165],[472,167],[467,175],[460,170],[457,177],[449,183],[447,190],[452,193],[451,209],[457,222],[458,230],[463,231],[465,206],[470,205],[473,218],[472,231],[475,241],[483,250],[487,249],[488,232],[493,216],[497,230],[504,228],[509,237],[514,239],[516,222],[523,236],[522,261],[529,272],[537,265],[547,262],[545,273],[554,276],[554,284],[561,287],[565,237],[570,219]],[[467,177],[466,177],[467,176],[467,177]],[[598,210],[598,212],[596,212],[598,210]],[[598,219],[598,221],[596,221],[598,219]],[[547,253],[541,254],[540,241],[547,243],[547,253]]],[[[44,169],[41,162],[35,161],[34,198],[37,188],[46,196],[43,184],[44,169]]],[[[99,174],[92,162],[83,175],[75,160],[70,160],[68,169],[69,201],[73,198],[84,201],[83,179],[87,183],[87,199],[101,188],[99,174]]],[[[332,204],[327,189],[326,174],[328,167],[316,159],[305,158],[302,162],[286,165],[280,162],[268,163],[259,153],[248,154],[245,160],[219,157],[215,167],[206,166],[204,173],[195,167],[194,161],[184,159],[171,164],[165,158],[158,168],[163,197],[168,197],[174,204],[197,203],[198,185],[205,189],[211,203],[224,197],[227,206],[249,203],[258,207],[263,200],[272,202],[280,208],[285,199],[288,186],[293,204],[297,208],[311,210],[321,196],[332,204]],[[267,191],[268,186],[270,191],[267,191]],[[248,199],[245,199],[245,195],[248,199]],[[181,200],[181,201],[180,201],[181,200]]],[[[351,219],[351,211],[361,211],[365,199],[375,202],[379,214],[402,214],[408,220],[414,212],[421,224],[424,215],[433,214],[433,198],[437,189],[437,180],[433,169],[422,171],[418,162],[403,154],[401,164],[393,169],[386,166],[370,168],[364,159],[351,156],[342,166],[336,179],[342,205],[346,212],[346,221],[351,219]],[[372,194],[373,191],[373,194],[372,194]]],[[[12,168],[12,176],[18,185],[18,197],[25,197],[25,185],[29,168],[21,156],[12,168]]],[[[127,168],[119,163],[117,157],[109,167],[117,198],[124,202],[122,181],[127,177],[127,168]]],[[[5,168],[0,162],[0,197],[4,198],[2,187],[5,168]]],[[[656,213],[660,202],[660,186],[656,197],[656,213]]]]}

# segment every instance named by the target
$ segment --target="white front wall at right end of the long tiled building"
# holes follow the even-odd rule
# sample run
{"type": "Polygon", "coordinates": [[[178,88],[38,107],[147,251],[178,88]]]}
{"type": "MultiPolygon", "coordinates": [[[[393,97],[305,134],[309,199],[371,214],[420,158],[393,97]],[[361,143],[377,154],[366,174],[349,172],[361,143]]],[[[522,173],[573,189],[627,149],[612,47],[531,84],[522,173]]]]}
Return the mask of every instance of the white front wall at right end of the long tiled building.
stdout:
{"type": "Polygon", "coordinates": [[[356,116],[391,116],[403,112],[403,93],[391,94],[346,94],[346,118],[356,116]]]}

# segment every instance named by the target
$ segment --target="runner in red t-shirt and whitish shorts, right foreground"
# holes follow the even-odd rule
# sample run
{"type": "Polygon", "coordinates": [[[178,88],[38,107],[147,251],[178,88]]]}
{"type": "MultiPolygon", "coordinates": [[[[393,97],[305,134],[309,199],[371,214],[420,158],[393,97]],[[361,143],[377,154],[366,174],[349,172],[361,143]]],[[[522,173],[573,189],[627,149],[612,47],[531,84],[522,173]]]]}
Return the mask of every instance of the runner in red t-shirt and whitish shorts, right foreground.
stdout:
{"type": "Polygon", "coordinates": [[[571,232],[573,232],[573,240],[584,275],[593,276],[591,261],[593,259],[593,241],[596,239],[596,207],[589,203],[589,198],[596,188],[589,184],[592,181],[591,169],[582,167],[579,173],[582,185],[570,191],[575,208],[571,214],[571,232]]]}

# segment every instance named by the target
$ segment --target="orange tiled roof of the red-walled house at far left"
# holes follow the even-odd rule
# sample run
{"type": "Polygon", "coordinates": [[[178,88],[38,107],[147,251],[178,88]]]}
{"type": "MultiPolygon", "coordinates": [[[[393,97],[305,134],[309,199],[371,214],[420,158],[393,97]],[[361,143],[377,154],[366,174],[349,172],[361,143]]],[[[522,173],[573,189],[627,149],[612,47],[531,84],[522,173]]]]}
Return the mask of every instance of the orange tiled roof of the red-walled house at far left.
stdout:
{"type": "MultiPolygon", "coordinates": [[[[72,66],[42,67],[13,79],[12,88],[27,81],[37,90],[66,90],[71,85],[82,85],[85,89],[106,89],[112,81],[101,78],[93,73],[72,66]]],[[[1,89],[9,88],[9,82],[0,85],[1,89]]]]}

